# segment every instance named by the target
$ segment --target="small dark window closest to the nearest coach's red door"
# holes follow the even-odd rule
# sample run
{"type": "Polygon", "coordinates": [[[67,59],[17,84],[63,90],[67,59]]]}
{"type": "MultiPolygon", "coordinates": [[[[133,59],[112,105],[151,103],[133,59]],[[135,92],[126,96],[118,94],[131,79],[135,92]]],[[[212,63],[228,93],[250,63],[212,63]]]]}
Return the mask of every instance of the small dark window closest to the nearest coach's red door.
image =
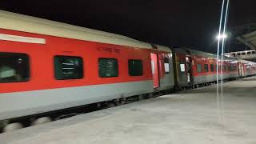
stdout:
{"type": "Polygon", "coordinates": [[[128,68],[130,76],[141,76],[143,75],[143,65],[142,60],[139,59],[129,59],[128,68]]]}

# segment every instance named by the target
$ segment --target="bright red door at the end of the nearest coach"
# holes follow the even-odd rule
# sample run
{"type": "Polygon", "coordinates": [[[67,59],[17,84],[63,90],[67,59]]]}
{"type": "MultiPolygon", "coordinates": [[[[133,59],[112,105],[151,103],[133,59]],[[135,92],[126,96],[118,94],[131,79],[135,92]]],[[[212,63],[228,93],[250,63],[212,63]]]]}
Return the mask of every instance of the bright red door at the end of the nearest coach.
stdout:
{"type": "Polygon", "coordinates": [[[154,88],[159,87],[159,71],[158,71],[158,55],[157,54],[150,54],[151,55],[151,68],[152,68],[152,75],[154,81],[154,88]]]}

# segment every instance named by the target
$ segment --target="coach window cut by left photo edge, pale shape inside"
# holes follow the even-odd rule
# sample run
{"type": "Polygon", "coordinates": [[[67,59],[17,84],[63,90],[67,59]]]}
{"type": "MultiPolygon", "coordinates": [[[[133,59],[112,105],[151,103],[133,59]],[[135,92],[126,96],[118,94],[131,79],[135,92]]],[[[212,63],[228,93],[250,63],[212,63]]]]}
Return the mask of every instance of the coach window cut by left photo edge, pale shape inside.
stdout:
{"type": "Polygon", "coordinates": [[[28,81],[29,62],[27,54],[0,53],[0,83],[28,81]]]}

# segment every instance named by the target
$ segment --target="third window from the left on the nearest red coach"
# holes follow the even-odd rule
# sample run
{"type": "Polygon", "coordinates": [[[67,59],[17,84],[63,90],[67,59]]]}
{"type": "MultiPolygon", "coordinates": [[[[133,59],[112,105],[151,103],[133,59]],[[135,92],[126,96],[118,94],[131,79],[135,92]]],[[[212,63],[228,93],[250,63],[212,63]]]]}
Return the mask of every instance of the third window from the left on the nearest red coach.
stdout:
{"type": "Polygon", "coordinates": [[[118,77],[118,60],[98,58],[98,74],[101,78],[118,77]]]}

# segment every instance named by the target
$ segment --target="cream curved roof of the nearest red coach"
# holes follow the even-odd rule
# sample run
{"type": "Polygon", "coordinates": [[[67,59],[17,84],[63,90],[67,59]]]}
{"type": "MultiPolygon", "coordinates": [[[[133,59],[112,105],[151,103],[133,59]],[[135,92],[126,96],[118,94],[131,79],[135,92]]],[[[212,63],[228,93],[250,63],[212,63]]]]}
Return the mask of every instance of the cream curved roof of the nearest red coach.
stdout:
{"type": "MultiPolygon", "coordinates": [[[[92,30],[82,26],[73,26],[62,22],[54,22],[23,14],[15,14],[4,10],[0,10],[0,28],[62,38],[74,38],[91,42],[110,43],[119,46],[153,49],[153,46],[151,46],[150,43],[141,42],[120,34],[92,30]]],[[[170,49],[166,47],[162,47],[158,50],[170,52],[170,49]]]]}

